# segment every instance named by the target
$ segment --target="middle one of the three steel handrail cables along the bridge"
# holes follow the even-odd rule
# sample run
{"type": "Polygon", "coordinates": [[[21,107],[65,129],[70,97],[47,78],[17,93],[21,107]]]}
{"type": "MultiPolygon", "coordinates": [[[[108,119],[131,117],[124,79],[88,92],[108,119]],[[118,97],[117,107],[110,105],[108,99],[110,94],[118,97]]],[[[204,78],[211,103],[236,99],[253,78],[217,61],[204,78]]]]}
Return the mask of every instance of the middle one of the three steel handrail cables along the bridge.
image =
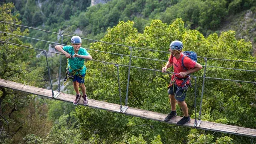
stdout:
{"type": "MultiPolygon", "coordinates": [[[[2,31],[0,31],[0,33],[6,33],[6,34],[9,34],[9,35],[16,35],[16,34],[12,34],[12,33],[8,33],[8,32],[2,32],[2,31]]],[[[16,35],[16,36],[26,37],[26,36],[22,36],[22,35],[16,35]]],[[[52,41],[41,40],[41,39],[32,38],[32,37],[26,37],[26,38],[33,39],[33,40],[44,41],[44,42],[48,42],[48,43],[55,43],[55,42],[52,42],[52,41]]],[[[55,43],[55,44],[67,46],[67,45],[62,44],[62,43],[55,43]]],[[[84,49],[92,50],[92,51],[96,51],[96,52],[105,52],[105,51],[100,51],[100,50],[96,50],[96,49],[88,49],[88,48],[84,48],[84,49]]],[[[163,61],[163,62],[167,62],[168,61],[168,60],[158,60],[158,59],[153,59],[153,58],[138,57],[138,56],[133,56],[133,55],[118,54],[118,53],[113,53],[113,52],[105,52],[105,53],[114,54],[114,55],[128,56],[128,57],[133,57],[133,58],[143,58],[143,59],[148,59],[148,60],[163,61]]],[[[205,66],[205,65],[202,65],[202,66],[205,66]]],[[[234,68],[219,67],[219,66],[207,66],[207,67],[220,68],[220,69],[233,69],[233,70],[241,70],[241,71],[248,71],[248,72],[256,72],[256,70],[249,70],[249,69],[234,69],[234,68]]]]}

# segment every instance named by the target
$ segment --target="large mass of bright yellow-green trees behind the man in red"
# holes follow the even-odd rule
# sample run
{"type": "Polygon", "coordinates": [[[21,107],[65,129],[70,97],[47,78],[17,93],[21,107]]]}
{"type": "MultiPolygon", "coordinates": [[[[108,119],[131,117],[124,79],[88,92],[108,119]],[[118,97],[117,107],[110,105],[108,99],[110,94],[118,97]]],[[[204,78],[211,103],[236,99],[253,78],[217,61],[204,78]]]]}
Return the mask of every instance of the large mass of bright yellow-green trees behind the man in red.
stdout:
{"type": "MultiPolygon", "coordinates": [[[[160,20],[153,20],[150,26],[145,27],[143,34],[140,34],[137,32],[137,29],[133,28],[133,22],[119,22],[117,26],[114,26],[112,29],[108,29],[108,34],[105,35],[102,41],[122,43],[128,46],[131,45],[148,49],[164,50],[162,48],[168,48],[170,41],[178,39],[183,41],[185,50],[195,51],[198,53],[198,55],[204,55],[210,58],[255,60],[255,58],[250,56],[249,53],[250,49],[252,48],[251,44],[245,42],[244,40],[236,40],[235,32],[222,32],[219,37],[217,34],[212,34],[205,38],[196,30],[186,30],[183,23],[184,22],[181,19],[175,20],[171,25],[164,24],[160,20]]],[[[92,43],[91,49],[122,53],[125,55],[128,55],[130,52],[128,48],[99,42],[92,43]]],[[[90,54],[94,59],[97,60],[104,60],[124,65],[128,65],[129,62],[129,58],[127,57],[120,57],[98,52],[90,52],[90,54]]],[[[147,57],[150,58],[163,60],[169,57],[169,55],[166,54],[158,54],[156,52],[145,50],[142,51],[138,49],[133,49],[132,55],[140,57],[147,55],[147,57]]],[[[204,62],[202,59],[199,59],[199,63],[204,62]]],[[[164,64],[164,62],[153,62],[145,59],[141,60],[139,58],[132,59],[133,66],[149,69],[161,69],[164,64]]],[[[88,67],[88,73],[85,81],[87,81],[87,92],[90,93],[90,98],[118,104],[119,98],[118,87],[116,84],[116,67],[112,65],[105,65],[104,63],[93,62],[87,62],[86,65],[88,67]]],[[[237,62],[216,60],[209,60],[207,65],[235,67],[239,69],[253,69],[255,66],[255,64],[252,63],[243,63],[243,65],[240,65],[237,62]]],[[[119,67],[119,78],[121,82],[121,94],[123,99],[126,93],[127,72],[127,68],[122,66],[119,67]]],[[[202,76],[203,72],[200,71],[193,75],[202,76]]],[[[234,73],[232,71],[228,71],[227,69],[223,70],[207,68],[207,76],[209,77],[245,80],[241,75],[247,75],[246,81],[255,81],[253,73],[251,72],[241,71],[234,73]]],[[[167,86],[168,82],[168,75],[151,71],[147,71],[145,73],[144,70],[131,69],[128,105],[130,107],[138,107],[140,109],[146,109],[154,112],[167,113],[170,108],[164,87],[167,86]]],[[[198,85],[200,85],[201,82],[202,80],[199,79],[198,85]]],[[[198,89],[201,89],[201,87],[198,89]]],[[[202,106],[203,115],[201,116],[203,120],[220,122],[224,124],[234,124],[242,127],[255,127],[253,125],[253,121],[255,121],[253,114],[255,113],[256,109],[250,104],[251,102],[255,102],[254,99],[251,99],[251,93],[254,95],[256,91],[250,84],[207,79],[204,89],[205,91],[202,106]],[[243,98],[236,95],[243,95],[243,98]],[[244,121],[246,121],[246,123],[239,121],[239,118],[242,118],[244,121]]],[[[201,90],[199,90],[198,93],[201,93],[201,90]]],[[[200,99],[197,101],[200,103],[200,99]]],[[[189,112],[193,111],[193,88],[190,90],[190,92],[188,92],[186,102],[189,107],[189,112]]],[[[182,115],[180,109],[177,109],[177,112],[178,114],[182,115]]],[[[90,111],[89,109],[85,110],[84,108],[77,109],[77,116],[80,121],[79,123],[81,124],[80,130],[82,131],[84,138],[90,138],[94,134],[93,132],[87,130],[89,129],[97,131],[96,134],[99,134],[99,138],[107,143],[109,141],[113,141],[112,137],[116,138],[115,136],[118,136],[119,138],[125,139],[126,135],[132,136],[136,135],[137,133],[142,134],[141,136],[143,137],[143,140],[139,137],[133,137],[135,139],[134,141],[138,139],[147,142],[152,141],[156,135],[160,135],[163,143],[190,141],[190,143],[201,144],[212,143],[216,140],[216,138],[225,139],[221,138],[222,136],[220,136],[218,133],[202,134],[201,131],[194,132],[194,136],[188,136],[188,139],[186,139],[184,137],[190,135],[186,132],[186,128],[168,127],[165,124],[142,120],[140,118],[121,118],[119,115],[105,114],[105,112],[98,112],[97,110],[93,109],[90,109],[90,111]],[[106,119],[111,122],[106,124],[106,119]],[[122,121],[122,123],[127,123],[127,125],[125,126],[120,124],[120,121],[122,121]],[[102,123],[105,124],[104,128],[101,126],[102,123]],[[113,124],[115,124],[115,126],[113,126],[113,124]],[[101,129],[98,129],[97,127],[101,127],[101,129]],[[112,130],[113,127],[115,127],[114,130],[112,130]],[[157,128],[154,129],[155,127],[157,128]],[[127,130],[127,132],[121,137],[119,132],[122,131],[122,129],[127,130]],[[105,135],[104,133],[106,130],[113,133],[105,135]],[[176,133],[179,133],[180,135],[176,135],[176,133]],[[169,135],[172,135],[172,139],[168,138],[169,135]]],[[[191,116],[194,117],[193,114],[191,116]]],[[[232,138],[236,139],[235,136],[232,138]]],[[[116,141],[120,141],[120,139],[116,139],[116,141]]],[[[250,140],[246,139],[245,141],[250,140]]]]}

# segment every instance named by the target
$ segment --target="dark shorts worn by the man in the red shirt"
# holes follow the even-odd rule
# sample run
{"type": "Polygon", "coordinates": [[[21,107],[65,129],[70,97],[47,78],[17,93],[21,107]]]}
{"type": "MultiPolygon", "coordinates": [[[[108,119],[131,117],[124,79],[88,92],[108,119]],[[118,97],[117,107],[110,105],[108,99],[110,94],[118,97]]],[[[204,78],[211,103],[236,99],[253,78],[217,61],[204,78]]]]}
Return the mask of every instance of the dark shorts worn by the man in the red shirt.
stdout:
{"type": "Polygon", "coordinates": [[[184,101],[186,98],[186,92],[187,92],[187,90],[181,89],[180,87],[178,89],[175,84],[172,85],[171,87],[169,87],[169,89],[168,89],[168,94],[175,95],[175,99],[177,101],[184,101]]]}

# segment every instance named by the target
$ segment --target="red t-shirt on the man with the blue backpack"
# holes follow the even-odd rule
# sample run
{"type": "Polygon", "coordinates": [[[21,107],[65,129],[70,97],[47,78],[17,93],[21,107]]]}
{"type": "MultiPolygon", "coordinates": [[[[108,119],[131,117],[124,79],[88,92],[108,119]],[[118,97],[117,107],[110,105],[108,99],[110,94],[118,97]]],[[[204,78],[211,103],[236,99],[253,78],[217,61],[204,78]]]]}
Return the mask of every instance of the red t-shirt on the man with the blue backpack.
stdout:
{"type": "MultiPolygon", "coordinates": [[[[170,58],[169,58],[169,62],[173,64],[173,67],[174,67],[174,72],[175,73],[180,73],[180,72],[186,72],[187,70],[186,69],[183,69],[183,66],[182,66],[182,57],[184,57],[185,55],[183,53],[180,53],[180,58],[176,59],[174,56],[170,55],[170,58]]],[[[183,59],[183,64],[184,66],[189,70],[189,69],[194,69],[195,68],[195,61],[194,60],[191,60],[189,57],[185,56],[184,59],[183,59]]],[[[182,77],[178,74],[175,74],[176,77],[178,78],[187,78],[186,77],[182,77]]],[[[173,78],[175,76],[172,75],[172,81],[173,81],[173,78]]],[[[182,84],[182,80],[178,80],[176,79],[176,84],[177,86],[181,86],[182,84]]],[[[189,81],[186,81],[186,84],[189,84],[189,81]]]]}

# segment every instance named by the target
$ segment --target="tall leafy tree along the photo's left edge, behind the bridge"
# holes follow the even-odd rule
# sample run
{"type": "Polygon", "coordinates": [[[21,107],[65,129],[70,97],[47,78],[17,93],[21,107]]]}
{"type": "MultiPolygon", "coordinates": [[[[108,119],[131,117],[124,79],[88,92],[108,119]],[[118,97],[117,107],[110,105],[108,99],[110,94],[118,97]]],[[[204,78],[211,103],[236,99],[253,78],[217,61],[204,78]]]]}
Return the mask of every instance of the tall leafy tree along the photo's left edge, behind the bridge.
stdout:
{"type": "MultiPolygon", "coordinates": [[[[18,15],[12,15],[12,3],[0,6],[0,20],[20,24],[18,15]]],[[[28,30],[20,31],[20,27],[0,23],[0,30],[16,35],[25,35],[28,30]]],[[[0,39],[6,42],[31,46],[23,43],[17,36],[0,34],[0,39]]],[[[35,51],[22,46],[0,43],[0,78],[41,87],[44,85],[42,67],[31,67],[35,60],[35,51]]],[[[47,120],[48,108],[43,102],[35,102],[35,96],[24,92],[0,87],[0,127],[1,142],[17,143],[26,133],[38,133],[43,136],[51,127],[47,120]],[[41,127],[44,125],[44,127],[41,127]]]]}

